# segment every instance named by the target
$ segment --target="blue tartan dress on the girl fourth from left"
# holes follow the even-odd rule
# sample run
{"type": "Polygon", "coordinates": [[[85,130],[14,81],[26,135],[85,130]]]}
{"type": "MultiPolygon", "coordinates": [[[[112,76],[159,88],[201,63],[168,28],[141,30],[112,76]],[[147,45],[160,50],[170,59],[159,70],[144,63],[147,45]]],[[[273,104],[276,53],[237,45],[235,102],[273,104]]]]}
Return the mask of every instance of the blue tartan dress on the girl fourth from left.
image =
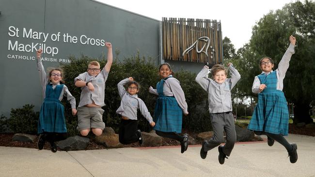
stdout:
{"type": "Polygon", "coordinates": [[[154,122],[156,123],[153,130],[161,132],[182,132],[183,111],[179,107],[175,97],[164,96],[163,85],[164,78],[157,83],[157,103],[154,111],[154,122]]]}

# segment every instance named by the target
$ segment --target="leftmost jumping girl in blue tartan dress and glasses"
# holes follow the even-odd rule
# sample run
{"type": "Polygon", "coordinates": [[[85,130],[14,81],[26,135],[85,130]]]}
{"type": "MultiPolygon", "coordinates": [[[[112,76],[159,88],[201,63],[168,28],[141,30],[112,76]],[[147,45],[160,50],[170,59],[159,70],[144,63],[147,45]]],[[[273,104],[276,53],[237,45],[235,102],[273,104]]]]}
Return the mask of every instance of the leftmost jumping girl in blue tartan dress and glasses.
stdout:
{"type": "Polygon", "coordinates": [[[37,69],[41,79],[44,102],[42,104],[38,119],[38,149],[42,150],[45,141],[50,143],[50,150],[57,151],[56,141],[66,138],[67,128],[64,119],[64,107],[61,103],[63,96],[67,97],[72,107],[72,114],[77,114],[76,99],[71,95],[68,88],[61,84],[62,70],[54,68],[50,70],[49,77],[46,76],[41,61],[42,50],[36,52],[37,69]]]}

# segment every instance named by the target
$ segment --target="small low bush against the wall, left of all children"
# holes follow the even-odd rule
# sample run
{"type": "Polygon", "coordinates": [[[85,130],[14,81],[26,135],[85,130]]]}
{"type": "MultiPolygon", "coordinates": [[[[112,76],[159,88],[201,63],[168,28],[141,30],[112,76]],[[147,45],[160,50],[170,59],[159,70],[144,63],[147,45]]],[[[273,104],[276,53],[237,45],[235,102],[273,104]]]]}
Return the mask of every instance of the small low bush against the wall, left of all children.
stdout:
{"type": "Polygon", "coordinates": [[[22,108],[11,109],[8,119],[1,115],[0,132],[9,128],[14,133],[36,134],[39,112],[34,112],[33,108],[34,105],[26,104],[22,108]]]}

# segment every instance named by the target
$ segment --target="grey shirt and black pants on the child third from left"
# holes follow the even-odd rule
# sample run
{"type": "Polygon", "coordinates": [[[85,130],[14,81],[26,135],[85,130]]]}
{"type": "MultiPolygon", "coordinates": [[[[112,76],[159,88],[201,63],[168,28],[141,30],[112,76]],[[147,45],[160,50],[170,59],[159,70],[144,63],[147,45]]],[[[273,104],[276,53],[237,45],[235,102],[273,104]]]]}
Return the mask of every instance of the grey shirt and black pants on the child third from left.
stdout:
{"type": "Polygon", "coordinates": [[[138,98],[138,95],[130,95],[126,91],[124,85],[126,85],[128,82],[129,79],[126,78],[117,84],[118,92],[122,100],[116,113],[120,114],[122,117],[128,118],[127,120],[122,118],[119,124],[119,142],[122,144],[134,143],[140,138],[139,133],[137,133],[138,109],[140,109],[141,114],[148,120],[149,123],[153,122],[150,112],[148,111],[144,102],[138,98]]]}

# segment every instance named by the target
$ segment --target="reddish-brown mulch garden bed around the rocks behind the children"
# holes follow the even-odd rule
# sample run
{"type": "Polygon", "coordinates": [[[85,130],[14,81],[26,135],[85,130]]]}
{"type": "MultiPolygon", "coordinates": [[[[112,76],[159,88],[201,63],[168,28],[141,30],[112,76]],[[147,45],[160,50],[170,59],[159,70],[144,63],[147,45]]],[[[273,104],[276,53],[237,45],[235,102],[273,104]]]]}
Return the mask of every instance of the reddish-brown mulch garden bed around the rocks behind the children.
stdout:
{"type": "MultiPolygon", "coordinates": [[[[198,133],[193,132],[184,132],[189,133],[189,136],[193,137],[196,140],[198,133]]],[[[301,134],[301,135],[308,135],[308,136],[315,136],[315,128],[306,128],[306,127],[297,127],[294,124],[289,124],[289,133],[292,134],[301,134]]],[[[20,148],[37,148],[36,143],[25,143],[25,142],[13,142],[12,137],[14,133],[0,133],[0,146],[4,147],[20,147],[20,148]]],[[[196,140],[197,141],[197,140],[196,140]]],[[[37,140],[36,140],[37,142],[37,140]]],[[[197,144],[201,144],[202,142],[198,142],[197,144]]],[[[178,141],[164,138],[163,145],[162,146],[178,146],[178,141]]],[[[124,145],[124,147],[128,148],[135,148],[135,147],[141,147],[138,143],[132,143],[129,145],[124,145]]],[[[98,145],[93,141],[90,141],[89,146],[87,150],[93,150],[93,149],[105,149],[103,145],[98,145]]],[[[50,149],[49,143],[46,143],[44,146],[44,149],[50,149]]]]}

